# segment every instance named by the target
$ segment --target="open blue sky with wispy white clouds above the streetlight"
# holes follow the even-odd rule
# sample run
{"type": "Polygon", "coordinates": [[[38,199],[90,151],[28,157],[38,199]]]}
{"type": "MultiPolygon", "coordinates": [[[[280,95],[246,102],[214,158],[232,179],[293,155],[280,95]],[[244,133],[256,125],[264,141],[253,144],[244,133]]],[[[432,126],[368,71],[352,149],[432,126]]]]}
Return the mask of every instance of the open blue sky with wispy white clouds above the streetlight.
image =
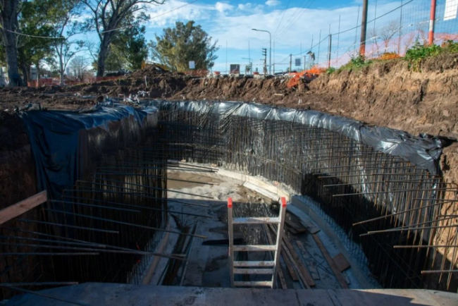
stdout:
{"type": "MultiPolygon", "coordinates": [[[[408,1],[404,0],[404,4],[408,1]]],[[[407,22],[416,25],[428,21],[429,2],[430,0],[413,0],[404,6],[404,15],[411,16],[411,21],[407,22]]],[[[245,66],[249,62],[248,58],[261,71],[261,49],[269,47],[269,36],[251,29],[268,30],[275,41],[272,61],[276,63],[276,71],[284,71],[289,66],[289,54],[299,54],[302,51],[304,56],[311,47],[312,37],[314,45],[318,42],[320,30],[323,39],[329,31],[338,32],[339,26],[342,31],[360,24],[361,4],[362,0],[168,0],[163,5],[149,6],[147,13],[151,20],[147,23],[146,37],[148,40],[154,39],[154,34],[160,35],[163,27],[171,27],[176,21],[185,23],[187,20],[194,20],[202,25],[213,40],[218,40],[220,49],[213,71],[226,71],[230,63],[245,66]],[[182,7],[179,8],[180,6],[182,7]]],[[[400,4],[401,0],[371,0],[368,20],[387,13],[400,4]]],[[[376,29],[399,18],[398,9],[378,19],[376,29]]],[[[368,27],[370,36],[373,23],[368,27]]],[[[359,29],[334,36],[332,55],[354,49],[355,42],[359,42],[359,29]]],[[[327,48],[328,39],[325,39],[320,44],[319,61],[326,61],[327,48]]],[[[318,46],[313,51],[318,57],[318,46]]],[[[295,57],[299,55],[293,56],[293,63],[295,57]]]]}

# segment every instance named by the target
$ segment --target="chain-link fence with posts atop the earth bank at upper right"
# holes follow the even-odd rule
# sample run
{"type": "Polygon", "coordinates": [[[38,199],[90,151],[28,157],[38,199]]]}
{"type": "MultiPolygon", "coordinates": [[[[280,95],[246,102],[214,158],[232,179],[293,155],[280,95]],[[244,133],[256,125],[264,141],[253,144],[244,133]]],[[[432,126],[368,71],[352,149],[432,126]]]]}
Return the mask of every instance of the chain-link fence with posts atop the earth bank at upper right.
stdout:
{"type": "MultiPolygon", "coordinates": [[[[404,56],[414,44],[428,44],[431,24],[431,0],[402,0],[393,3],[388,9],[384,3],[369,3],[366,29],[367,59],[392,59],[404,56]]],[[[302,71],[304,68],[340,67],[359,55],[361,44],[362,8],[359,7],[357,20],[354,16],[339,16],[337,27],[321,29],[319,37],[308,37],[312,42],[309,49],[273,60],[273,71],[302,71]],[[345,20],[345,18],[353,20],[345,20]],[[340,25],[354,23],[354,27],[342,28],[340,25]]],[[[458,0],[435,1],[433,18],[434,44],[458,40],[458,0]]],[[[316,31],[318,32],[318,31],[316,31]]],[[[307,37],[306,37],[307,38],[307,37]]],[[[275,51],[274,51],[275,52],[275,51]]],[[[284,52],[283,52],[284,53],[284,52]]],[[[289,52],[288,52],[289,53],[289,52]]],[[[240,73],[245,72],[246,61],[240,59],[240,73]]],[[[232,62],[231,62],[232,63],[232,62]]],[[[253,73],[258,68],[263,72],[262,63],[252,64],[253,73]]]]}

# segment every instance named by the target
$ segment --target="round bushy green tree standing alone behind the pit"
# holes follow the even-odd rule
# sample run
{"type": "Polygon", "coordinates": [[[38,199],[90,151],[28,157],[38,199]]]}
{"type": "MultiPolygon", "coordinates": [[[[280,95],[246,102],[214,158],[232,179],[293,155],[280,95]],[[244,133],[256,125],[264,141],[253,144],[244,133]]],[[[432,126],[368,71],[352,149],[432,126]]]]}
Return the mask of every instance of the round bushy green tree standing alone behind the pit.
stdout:
{"type": "Polygon", "coordinates": [[[172,71],[187,71],[189,62],[194,61],[196,69],[208,70],[218,59],[216,43],[194,21],[186,24],[177,22],[175,27],[163,30],[162,36],[156,35],[156,42],[150,42],[151,56],[154,60],[168,66],[172,71]]]}

